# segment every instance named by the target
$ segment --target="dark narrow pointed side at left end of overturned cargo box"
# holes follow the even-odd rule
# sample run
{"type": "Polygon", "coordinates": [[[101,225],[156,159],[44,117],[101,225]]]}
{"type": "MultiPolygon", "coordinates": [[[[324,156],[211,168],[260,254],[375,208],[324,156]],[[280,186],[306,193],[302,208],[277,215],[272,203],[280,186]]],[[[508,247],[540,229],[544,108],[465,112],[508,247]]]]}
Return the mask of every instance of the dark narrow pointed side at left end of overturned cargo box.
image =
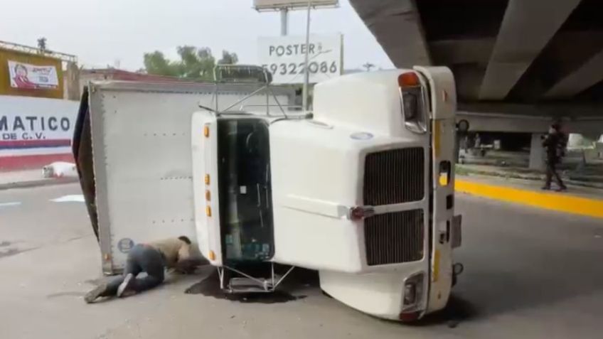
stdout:
{"type": "Polygon", "coordinates": [[[92,231],[95,233],[97,241],[98,235],[98,217],[96,210],[96,188],[94,161],[92,160],[92,134],[90,133],[90,108],[88,107],[88,87],[84,87],[80,109],[78,110],[78,119],[75,121],[72,143],[73,158],[75,166],[78,168],[80,185],[86,202],[88,215],[92,224],[92,231]]]}

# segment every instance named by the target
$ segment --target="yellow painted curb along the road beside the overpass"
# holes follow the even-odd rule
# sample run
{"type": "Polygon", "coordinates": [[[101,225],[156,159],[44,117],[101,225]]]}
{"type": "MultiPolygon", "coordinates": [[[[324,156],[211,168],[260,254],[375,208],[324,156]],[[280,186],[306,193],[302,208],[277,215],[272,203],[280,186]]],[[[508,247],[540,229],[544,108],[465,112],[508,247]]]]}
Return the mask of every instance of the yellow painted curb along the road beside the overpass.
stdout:
{"type": "Polygon", "coordinates": [[[603,200],[580,198],[563,193],[535,192],[506,186],[488,185],[474,181],[458,180],[454,183],[457,192],[481,197],[519,203],[548,210],[557,210],[589,217],[603,218],[603,200]]]}

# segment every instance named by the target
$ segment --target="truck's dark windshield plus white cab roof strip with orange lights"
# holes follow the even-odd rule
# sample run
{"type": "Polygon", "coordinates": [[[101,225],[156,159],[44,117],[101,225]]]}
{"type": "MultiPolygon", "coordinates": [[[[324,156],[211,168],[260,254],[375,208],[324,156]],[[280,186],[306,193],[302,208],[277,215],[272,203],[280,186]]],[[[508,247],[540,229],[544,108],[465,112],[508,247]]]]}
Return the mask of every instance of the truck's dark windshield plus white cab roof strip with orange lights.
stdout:
{"type": "Polygon", "coordinates": [[[196,112],[191,149],[199,249],[215,266],[272,258],[268,125],[196,112]]]}

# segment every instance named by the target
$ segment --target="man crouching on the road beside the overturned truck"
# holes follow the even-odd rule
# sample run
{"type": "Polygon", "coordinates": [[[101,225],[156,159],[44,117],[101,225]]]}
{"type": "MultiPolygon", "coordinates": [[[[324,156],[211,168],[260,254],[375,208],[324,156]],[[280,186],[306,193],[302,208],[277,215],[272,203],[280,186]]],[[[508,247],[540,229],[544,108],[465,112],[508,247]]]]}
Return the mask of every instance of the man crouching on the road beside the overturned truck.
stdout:
{"type": "Polygon", "coordinates": [[[131,296],[161,284],[166,268],[190,271],[198,264],[200,261],[191,257],[191,240],[186,236],[137,244],[128,252],[124,275],[100,284],[84,300],[92,303],[102,296],[131,296]],[[141,272],[146,276],[137,278],[141,272]]]}

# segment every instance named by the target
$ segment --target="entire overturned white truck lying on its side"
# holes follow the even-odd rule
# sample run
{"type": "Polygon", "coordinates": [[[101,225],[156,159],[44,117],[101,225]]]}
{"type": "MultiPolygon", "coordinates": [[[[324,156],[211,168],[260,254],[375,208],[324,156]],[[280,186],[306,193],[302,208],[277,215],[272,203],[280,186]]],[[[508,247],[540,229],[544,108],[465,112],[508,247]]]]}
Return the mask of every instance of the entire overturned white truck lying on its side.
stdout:
{"type": "Polygon", "coordinates": [[[338,77],[309,113],[265,70],[233,70],[214,85],[90,83],[73,149],[104,271],[134,242],[183,234],[225,291],[274,291],[277,263],[318,270],[326,293],[380,318],[444,308],[461,270],[452,73],[338,77]]]}

